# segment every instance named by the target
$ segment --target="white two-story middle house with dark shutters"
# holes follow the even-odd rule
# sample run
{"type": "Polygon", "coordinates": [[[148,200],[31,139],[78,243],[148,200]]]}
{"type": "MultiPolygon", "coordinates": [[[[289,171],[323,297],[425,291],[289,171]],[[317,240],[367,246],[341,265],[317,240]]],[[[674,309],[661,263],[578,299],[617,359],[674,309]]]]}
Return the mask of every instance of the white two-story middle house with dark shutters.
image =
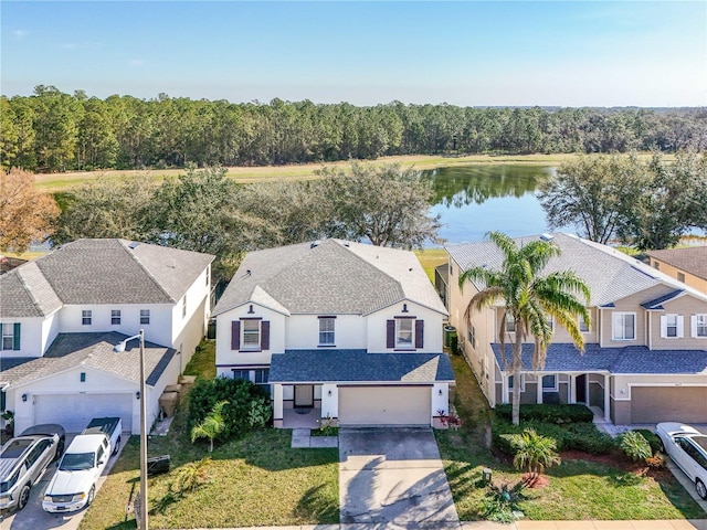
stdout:
{"type": "Polygon", "coordinates": [[[340,425],[434,425],[449,411],[447,312],[411,252],[252,252],[213,315],[218,373],[270,385],[275,426],[307,409],[340,425]]]}

